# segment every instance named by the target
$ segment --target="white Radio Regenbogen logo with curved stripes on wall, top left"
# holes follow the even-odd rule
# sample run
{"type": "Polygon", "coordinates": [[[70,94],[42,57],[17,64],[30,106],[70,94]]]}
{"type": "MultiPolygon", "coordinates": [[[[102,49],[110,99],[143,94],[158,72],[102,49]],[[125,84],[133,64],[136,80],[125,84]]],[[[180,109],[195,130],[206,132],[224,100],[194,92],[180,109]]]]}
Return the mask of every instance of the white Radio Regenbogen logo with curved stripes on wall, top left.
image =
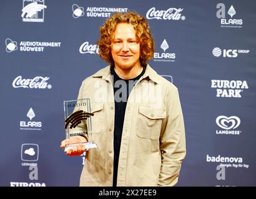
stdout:
{"type": "Polygon", "coordinates": [[[23,0],[22,21],[23,22],[44,22],[44,0],[23,0]]]}

